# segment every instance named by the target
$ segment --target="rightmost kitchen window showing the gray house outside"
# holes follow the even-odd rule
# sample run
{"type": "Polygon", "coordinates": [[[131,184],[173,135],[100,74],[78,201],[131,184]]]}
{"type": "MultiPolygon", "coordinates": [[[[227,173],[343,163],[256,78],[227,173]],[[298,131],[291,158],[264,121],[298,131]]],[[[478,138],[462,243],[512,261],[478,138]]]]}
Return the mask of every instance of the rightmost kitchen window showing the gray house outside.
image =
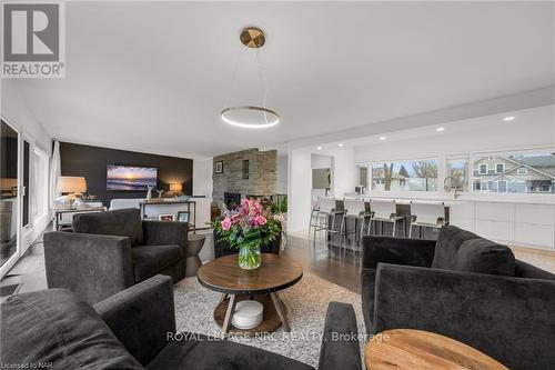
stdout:
{"type": "Polygon", "coordinates": [[[555,193],[555,152],[475,156],[473,191],[555,193]]]}

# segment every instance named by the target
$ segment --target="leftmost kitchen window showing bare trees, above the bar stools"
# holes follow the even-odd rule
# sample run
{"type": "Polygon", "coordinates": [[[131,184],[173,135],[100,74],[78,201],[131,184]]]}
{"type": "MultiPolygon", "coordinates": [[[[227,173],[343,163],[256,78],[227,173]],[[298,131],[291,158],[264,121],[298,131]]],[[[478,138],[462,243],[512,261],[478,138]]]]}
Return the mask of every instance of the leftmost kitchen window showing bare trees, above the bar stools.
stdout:
{"type": "Polygon", "coordinates": [[[437,191],[437,160],[372,163],[372,190],[437,191]]]}

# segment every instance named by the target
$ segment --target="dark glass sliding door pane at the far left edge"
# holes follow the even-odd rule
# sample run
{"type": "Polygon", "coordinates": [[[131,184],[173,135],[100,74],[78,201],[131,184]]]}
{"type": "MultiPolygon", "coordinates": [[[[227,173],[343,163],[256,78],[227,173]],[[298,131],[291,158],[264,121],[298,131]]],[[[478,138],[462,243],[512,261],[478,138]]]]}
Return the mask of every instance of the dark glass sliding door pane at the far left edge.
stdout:
{"type": "Polygon", "coordinates": [[[19,256],[19,132],[4,121],[0,128],[0,267],[19,256]]]}

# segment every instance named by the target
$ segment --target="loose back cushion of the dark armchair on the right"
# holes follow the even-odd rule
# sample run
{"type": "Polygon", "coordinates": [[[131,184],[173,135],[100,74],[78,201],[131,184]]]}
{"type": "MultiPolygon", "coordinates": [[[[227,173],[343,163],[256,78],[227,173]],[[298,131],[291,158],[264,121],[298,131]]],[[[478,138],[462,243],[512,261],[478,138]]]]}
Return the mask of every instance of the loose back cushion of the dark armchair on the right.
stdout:
{"type": "Polygon", "coordinates": [[[435,244],[432,268],[515,276],[513,251],[456,227],[443,227],[435,244]]]}

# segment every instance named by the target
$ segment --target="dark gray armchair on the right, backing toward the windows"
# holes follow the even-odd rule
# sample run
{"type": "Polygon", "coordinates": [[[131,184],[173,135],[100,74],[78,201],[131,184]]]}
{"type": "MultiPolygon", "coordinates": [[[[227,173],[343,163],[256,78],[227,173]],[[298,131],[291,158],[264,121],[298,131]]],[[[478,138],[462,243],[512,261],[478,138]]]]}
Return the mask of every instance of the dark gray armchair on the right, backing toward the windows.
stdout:
{"type": "Polygon", "coordinates": [[[362,306],[369,333],[411,328],[470,344],[511,369],[555,364],[555,276],[456,227],[437,242],[366,237],[362,306]]]}

